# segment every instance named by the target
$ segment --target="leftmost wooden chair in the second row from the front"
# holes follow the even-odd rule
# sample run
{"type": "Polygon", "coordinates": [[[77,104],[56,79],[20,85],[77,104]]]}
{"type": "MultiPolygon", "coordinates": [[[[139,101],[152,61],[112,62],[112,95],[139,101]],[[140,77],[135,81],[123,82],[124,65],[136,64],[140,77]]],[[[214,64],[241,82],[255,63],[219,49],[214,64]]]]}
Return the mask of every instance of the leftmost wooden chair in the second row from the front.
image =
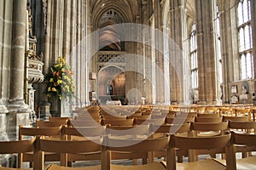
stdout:
{"type": "MultiPolygon", "coordinates": [[[[19,126],[19,140],[23,140],[26,138],[34,138],[36,136],[41,137],[55,137],[60,139],[61,138],[61,127],[23,127],[22,125],[19,126]]],[[[59,161],[60,155],[55,154],[53,152],[45,153],[44,154],[45,161],[59,161]]],[[[34,161],[33,152],[28,153],[20,153],[18,155],[18,167],[21,167],[22,161],[29,161],[30,167],[32,167],[32,162],[34,161]]]]}

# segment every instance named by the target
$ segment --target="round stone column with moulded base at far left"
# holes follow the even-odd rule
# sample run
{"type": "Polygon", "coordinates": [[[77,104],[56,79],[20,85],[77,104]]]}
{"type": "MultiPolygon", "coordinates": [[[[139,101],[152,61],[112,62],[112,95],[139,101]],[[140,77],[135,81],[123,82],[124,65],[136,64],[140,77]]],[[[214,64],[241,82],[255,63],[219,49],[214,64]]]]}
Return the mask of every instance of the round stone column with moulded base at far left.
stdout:
{"type": "Polygon", "coordinates": [[[24,102],[24,62],[26,40],[26,0],[13,1],[12,52],[10,55],[9,139],[17,138],[20,124],[29,125],[29,108],[24,102]]]}

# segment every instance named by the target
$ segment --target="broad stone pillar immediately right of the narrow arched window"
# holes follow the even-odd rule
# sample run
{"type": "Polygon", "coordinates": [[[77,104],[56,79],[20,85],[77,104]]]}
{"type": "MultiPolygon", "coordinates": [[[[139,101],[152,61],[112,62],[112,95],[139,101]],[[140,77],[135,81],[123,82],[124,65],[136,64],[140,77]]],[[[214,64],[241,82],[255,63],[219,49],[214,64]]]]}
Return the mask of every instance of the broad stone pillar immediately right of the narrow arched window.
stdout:
{"type": "Polygon", "coordinates": [[[196,0],[196,37],[198,54],[199,103],[216,104],[216,52],[214,51],[213,0],[196,0]]]}

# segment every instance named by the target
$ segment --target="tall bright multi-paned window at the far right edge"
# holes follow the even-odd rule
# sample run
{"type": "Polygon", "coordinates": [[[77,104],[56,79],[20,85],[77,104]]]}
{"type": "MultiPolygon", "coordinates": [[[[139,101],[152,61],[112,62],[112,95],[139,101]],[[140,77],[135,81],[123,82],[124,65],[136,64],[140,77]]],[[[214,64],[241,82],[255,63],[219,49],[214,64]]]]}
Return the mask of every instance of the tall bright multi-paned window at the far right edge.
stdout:
{"type": "Polygon", "coordinates": [[[243,0],[238,4],[237,16],[240,78],[250,79],[254,77],[251,0],[243,0]]]}

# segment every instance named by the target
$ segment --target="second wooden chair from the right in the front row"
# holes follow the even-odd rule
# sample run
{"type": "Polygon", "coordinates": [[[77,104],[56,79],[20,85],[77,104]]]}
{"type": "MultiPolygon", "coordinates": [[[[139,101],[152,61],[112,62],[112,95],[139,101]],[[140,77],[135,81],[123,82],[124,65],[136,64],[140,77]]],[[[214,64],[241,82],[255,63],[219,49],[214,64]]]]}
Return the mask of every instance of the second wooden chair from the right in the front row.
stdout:
{"type": "Polygon", "coordinates": [[[170,156],[166,162],[166,167],[167,169],[224,170],[224,165],[212,159],[193,161],[188,163],[177,163],[176,149],[179,148],[183,150],[218,150],[227,147],[227,145],[230,143],[230,137],[230,133],[212,137],[188,137],[174,134],[171,136],[171,151],[169,152],[170,156]]]}

